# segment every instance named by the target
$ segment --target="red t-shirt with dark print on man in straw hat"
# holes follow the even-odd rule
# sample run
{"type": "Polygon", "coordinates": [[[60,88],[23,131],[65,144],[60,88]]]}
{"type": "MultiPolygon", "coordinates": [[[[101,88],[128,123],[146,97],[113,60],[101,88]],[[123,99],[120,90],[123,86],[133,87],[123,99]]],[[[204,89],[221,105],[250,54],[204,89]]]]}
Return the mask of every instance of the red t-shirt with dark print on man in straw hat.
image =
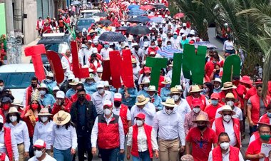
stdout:
{"type": "Polygon", "coordinates": [[[203,132],[203,137],[200,136],[198,128],[192,128],[186,136],[186,141],[192,144],[192,155],[195,161],[208,161],[212,144],[218,142],[218,137],[211,128],[207,128],[203,132]]]}

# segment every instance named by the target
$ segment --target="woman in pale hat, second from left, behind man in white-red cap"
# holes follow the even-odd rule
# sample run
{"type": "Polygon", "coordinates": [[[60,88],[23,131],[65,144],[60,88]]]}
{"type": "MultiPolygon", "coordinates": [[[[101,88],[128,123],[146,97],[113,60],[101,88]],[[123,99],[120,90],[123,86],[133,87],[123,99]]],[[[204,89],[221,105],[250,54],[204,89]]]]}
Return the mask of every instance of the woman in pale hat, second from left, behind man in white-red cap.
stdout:
{"type": "Polygon", "coordinates": [[[46,142],[46,153],[53,157],[51,152],[51,138],[53,133],[53,121],[51,121],[51,113],[48,108],[42,108],[39,112],[39,121],[36,123],[33,135],[33,142],[36,140],[44,140],[46,142]]]}

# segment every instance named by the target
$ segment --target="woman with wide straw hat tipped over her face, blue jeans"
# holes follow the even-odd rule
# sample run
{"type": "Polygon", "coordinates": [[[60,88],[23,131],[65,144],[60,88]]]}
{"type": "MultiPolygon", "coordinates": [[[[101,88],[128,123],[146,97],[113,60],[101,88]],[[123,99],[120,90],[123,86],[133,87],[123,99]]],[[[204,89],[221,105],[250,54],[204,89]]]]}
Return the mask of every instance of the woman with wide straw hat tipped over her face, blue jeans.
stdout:
{"type": "Polygon", "coordinates": [[[58,161],[71,161],[76,153],[77,135],[76,128],[71,122],[71,115],[60,110],[53,116],[53,157],[58,161]]]}

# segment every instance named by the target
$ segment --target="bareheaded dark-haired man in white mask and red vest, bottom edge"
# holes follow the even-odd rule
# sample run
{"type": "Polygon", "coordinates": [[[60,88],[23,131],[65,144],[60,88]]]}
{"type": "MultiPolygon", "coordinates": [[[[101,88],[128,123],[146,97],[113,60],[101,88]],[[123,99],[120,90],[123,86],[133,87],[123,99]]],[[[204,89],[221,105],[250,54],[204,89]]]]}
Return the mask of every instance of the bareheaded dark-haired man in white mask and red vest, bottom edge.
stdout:
{"type": "Polygon", "coordinates": [[[220,146],[215,147],[209,153],[208,160],[213,161],[243,161],[242,154],[237,147],[230,146],[230,137],[227,133],[220,133],[218,136],[220,146]]]}

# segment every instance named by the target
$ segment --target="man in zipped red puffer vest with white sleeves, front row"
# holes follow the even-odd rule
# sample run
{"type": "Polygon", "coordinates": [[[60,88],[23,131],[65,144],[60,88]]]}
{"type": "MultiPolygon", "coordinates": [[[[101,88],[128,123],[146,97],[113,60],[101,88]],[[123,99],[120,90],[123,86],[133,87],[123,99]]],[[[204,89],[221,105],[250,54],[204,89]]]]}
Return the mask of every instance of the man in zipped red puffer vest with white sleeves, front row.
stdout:
{"type": "Polygon", "coordinates": [[[119,149],[124,152],[123,123],[118,115],[112,113],[111,100],[103,102],[103,114],[98,115],[91,133],[92,154],[96,155],[98,148],[103,161],[117,160],[119,149]]]}

